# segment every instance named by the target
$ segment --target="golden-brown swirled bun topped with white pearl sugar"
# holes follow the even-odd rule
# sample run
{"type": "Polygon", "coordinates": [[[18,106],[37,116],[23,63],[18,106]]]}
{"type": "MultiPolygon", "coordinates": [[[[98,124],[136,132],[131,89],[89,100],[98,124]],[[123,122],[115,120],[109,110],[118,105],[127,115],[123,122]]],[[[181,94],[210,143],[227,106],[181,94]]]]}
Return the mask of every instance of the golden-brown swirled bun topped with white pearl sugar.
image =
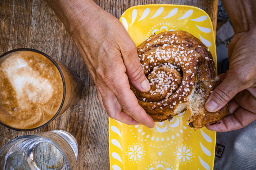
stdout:
{"type": "Polygon", "coordinates": [[[152,35],[137,52],[151,89],[143,93],[131,83],[138,103],[154,121],[164,121],[188,109],[195,129],[226,116],[227,105],[210,113],[204,104],[220,83],[209,49],[185,31],[152,35]]]}

